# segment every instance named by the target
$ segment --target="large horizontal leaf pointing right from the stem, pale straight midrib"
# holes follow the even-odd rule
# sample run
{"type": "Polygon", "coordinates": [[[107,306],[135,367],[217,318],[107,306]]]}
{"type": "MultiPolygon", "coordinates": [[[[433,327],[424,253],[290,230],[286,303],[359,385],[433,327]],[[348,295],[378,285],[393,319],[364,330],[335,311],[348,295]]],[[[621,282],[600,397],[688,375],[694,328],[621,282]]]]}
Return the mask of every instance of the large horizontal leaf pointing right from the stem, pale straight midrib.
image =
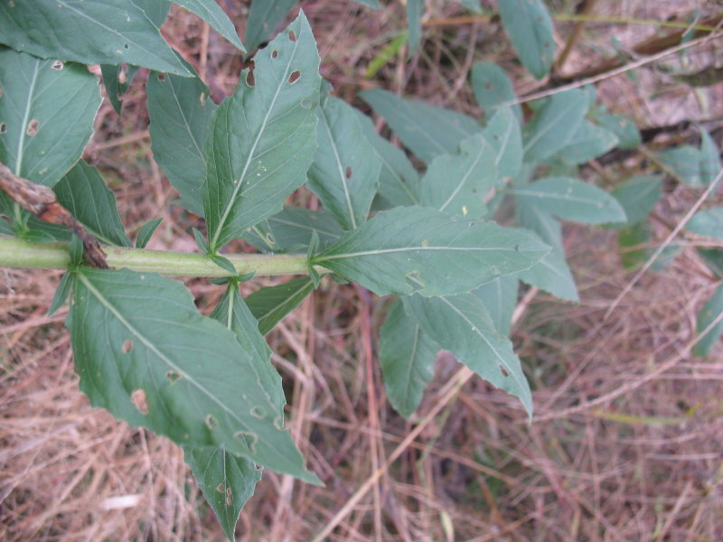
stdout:
{"type": "Polygon", "coordinates": [[[312,263],[379,295],[447,295],[527,269],[548,252],[521,230],[402,207],[380,211],[312,263]]]}

